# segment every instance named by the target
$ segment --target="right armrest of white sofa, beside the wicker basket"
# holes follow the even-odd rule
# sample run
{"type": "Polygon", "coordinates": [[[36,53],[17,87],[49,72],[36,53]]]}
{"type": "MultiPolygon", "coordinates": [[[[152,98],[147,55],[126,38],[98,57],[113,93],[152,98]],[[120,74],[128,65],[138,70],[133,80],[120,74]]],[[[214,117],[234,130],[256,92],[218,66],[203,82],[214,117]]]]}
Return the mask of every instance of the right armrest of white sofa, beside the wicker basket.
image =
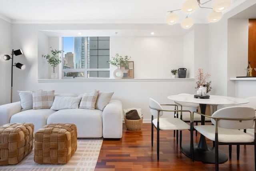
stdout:
{"type": "Polygon", "coordinates": [[[123,133],[123,107],[120,100],[110,100],[102,113],[103,137],[121,138],[123,133]]]}

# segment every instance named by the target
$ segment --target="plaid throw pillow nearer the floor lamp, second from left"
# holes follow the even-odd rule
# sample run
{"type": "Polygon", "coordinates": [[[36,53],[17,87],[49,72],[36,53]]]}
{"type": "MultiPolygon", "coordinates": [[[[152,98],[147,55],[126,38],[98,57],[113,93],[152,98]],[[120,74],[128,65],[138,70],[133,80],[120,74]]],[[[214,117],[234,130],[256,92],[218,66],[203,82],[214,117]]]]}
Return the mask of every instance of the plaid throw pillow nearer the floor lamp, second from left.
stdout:
{"type": "Polygon", "coordinates": [[[52,91],[34,91],[33,109],[50,109],[54,101],[54,90],[52,91]]]}

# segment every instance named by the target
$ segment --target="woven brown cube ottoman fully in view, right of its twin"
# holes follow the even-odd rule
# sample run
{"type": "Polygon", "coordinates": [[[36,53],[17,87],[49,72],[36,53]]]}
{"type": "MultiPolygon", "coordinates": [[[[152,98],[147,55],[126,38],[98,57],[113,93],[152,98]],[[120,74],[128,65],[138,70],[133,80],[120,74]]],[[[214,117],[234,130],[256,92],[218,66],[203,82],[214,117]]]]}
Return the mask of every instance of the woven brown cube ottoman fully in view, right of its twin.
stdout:
{"type": "Polygon", "coordinates": [[[45,125],[35,133],[34,161],[51,164],[68,163],[77,148],[76,137],[74,124],[45,125]]]}

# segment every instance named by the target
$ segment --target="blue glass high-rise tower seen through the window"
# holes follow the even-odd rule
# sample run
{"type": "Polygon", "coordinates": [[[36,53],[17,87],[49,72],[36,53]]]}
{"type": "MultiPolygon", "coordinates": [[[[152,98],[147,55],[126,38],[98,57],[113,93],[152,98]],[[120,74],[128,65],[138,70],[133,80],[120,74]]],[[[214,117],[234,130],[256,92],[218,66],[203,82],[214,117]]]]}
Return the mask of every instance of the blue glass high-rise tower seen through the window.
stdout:
{"type": "Polygon", "coordinates": [[[74,37],[74,68],[85,68],[85,37],[74,37]]]}

